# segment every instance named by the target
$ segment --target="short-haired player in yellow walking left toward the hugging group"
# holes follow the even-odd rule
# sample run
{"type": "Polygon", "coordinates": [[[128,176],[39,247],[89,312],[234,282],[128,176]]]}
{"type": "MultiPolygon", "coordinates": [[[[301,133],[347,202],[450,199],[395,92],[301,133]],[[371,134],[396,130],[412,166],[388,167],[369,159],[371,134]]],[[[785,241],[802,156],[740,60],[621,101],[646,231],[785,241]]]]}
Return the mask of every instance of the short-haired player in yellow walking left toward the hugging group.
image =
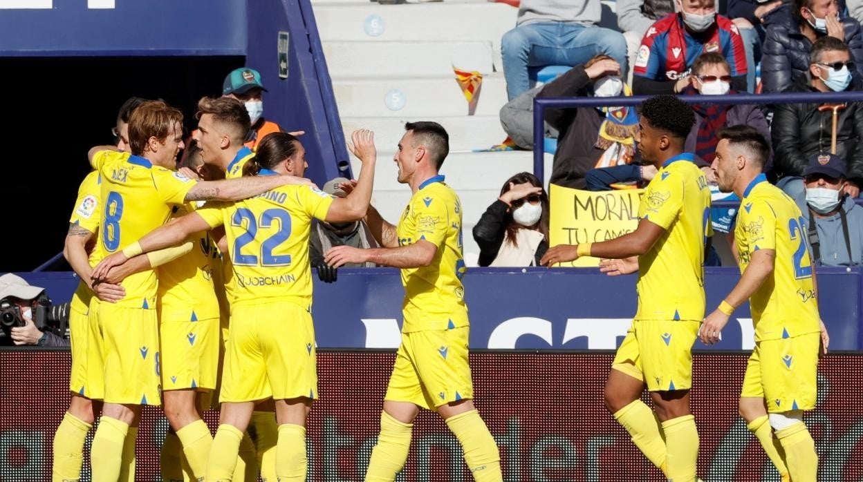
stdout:
{"type": "Polygon", "coordinates": [[[419,409],[444,418],[464,449],[474,479],[501,481],[501,456],[472,398],[468,364],[468,307],[462,275],[462,207],[438,175],[450,138],[437,122],[408,122],[394,161],[399,182],[413,192],[399,226],[369,210],[379,248],[332,247],[330,266],[373,262],[401,268],[405,286],[401,345],[381,413],[367,481],[392,481],[405,465],[419,409]]]}

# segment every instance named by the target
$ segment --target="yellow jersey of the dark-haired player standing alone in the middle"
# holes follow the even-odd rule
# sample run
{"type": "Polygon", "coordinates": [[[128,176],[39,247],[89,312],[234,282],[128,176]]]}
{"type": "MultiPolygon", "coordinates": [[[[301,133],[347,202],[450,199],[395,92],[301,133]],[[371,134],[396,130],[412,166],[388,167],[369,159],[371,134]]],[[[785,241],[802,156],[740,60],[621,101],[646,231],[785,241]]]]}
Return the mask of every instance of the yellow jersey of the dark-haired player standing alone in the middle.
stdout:
{"type": "Polygon", "coordinates": [[[462,276],[462,203],[456,191],[435,176],[419,185],[396,229],[399,246],[420,240],[438,247],[431,265],[401,270],[405,286],[402,331],[469,326],[462,276]]]}

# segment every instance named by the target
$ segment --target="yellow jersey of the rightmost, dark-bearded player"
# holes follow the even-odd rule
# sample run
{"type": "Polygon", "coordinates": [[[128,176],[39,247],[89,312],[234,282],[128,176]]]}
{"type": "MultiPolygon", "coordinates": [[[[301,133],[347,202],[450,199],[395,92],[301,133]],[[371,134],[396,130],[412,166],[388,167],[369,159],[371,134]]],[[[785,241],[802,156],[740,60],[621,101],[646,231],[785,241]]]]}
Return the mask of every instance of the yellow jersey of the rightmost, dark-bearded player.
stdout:
{"type": "Polygon", "coordinates": [[[746,187],[734,228],[740,272],[759,249],[776,252],[773,273],[749,300],[755,341],[820,331],[812,261],[803,215],[797,204],[763,174],[746,187]]]}

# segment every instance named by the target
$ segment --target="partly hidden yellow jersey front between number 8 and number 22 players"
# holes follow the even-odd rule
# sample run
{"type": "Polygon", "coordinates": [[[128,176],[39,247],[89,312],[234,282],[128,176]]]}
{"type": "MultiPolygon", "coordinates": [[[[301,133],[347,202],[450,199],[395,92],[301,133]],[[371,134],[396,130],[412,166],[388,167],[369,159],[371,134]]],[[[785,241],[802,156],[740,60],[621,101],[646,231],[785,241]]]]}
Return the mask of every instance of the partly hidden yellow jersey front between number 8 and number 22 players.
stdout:
{"type": "MultiPolygon", "coordinates": [[[[174,206],[173,217],[197,208],[196,203],[174,206]]],[[[221,269],[218,249],[207,232],[192,235],[192,252],[159,266],[159,304],[163,320],[197,322],[219,316],[213,275],[221,269]]],[[[218,275],[217,275],[218,276],[218,275]]],[[[221,277],[218,276],[220,279],[221,277]]]]}

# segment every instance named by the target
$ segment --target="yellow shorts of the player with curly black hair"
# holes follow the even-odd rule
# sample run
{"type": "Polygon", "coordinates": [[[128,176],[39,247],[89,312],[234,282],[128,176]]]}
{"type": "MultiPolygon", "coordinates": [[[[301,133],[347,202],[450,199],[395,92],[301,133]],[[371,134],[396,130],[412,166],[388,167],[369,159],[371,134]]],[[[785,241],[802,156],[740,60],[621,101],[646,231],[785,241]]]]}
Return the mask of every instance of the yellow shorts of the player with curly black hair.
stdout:
{"type": "Polygon", "coordinates": [[[648,391],[689,390],[692,345],[700,326],[689,320],[633,320],[611,367],[643,380],[648,391]]]}

